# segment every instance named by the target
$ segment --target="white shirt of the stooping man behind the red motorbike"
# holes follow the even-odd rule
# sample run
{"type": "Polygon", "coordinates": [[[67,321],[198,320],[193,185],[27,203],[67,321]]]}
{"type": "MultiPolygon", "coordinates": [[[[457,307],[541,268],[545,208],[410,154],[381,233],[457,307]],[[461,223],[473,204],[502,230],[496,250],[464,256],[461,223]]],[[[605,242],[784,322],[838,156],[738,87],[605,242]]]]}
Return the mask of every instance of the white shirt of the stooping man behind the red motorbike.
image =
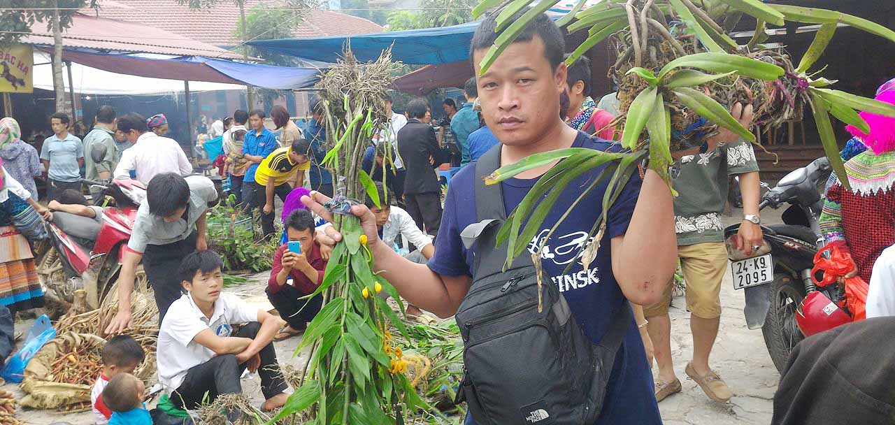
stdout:
{"type": "Polygon", "coordinates": [[[137,172],[137,180],[149,184],[156,174],[190,175],[192,165],[177,141],[154,132],[144,132],[133,147],[121,155],[121,161],[115,167],[115,178],[130,178],[131,170],[137,172]]]}

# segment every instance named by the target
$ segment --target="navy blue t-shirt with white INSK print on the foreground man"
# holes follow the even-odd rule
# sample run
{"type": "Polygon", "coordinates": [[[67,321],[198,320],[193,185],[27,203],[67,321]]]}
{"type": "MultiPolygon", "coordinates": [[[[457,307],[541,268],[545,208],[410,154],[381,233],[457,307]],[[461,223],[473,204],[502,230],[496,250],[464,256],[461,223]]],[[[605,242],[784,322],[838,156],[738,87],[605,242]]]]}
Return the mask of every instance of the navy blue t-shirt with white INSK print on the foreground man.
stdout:
{"type": "MultiPolygon", "coordinates": [[[[609,150],[613,146],[617,145],[588,136],[584,132],[578,132],[573,144],[575,148],[598,150],[609,150]]],[[[550,232],[550,228],[559,217],[571,207],[581,191],[600,174],[601,170],[602,168],[593,169],[567,186],[541,225],[541,230],[533,241],[529,242],[529,251],[535,251],[540,246],[541,238],[550,232]]],[[[465,226],[476,221],[474,178],[475,166],[467,166],[460,170],[447,186],[441,227],[435,240],[435,256],[428,263],[429,268],[439,275],[472,276],[473,253],[463,246],[460,232],[465,226]]],[[[537,180],[509,179],[501,183],[507,214],[519,204],[537,180]]],[[[636,176],[632,177],[616,203],[609,209],[606,234],[601,242],[600,251],[593,259],[590,271],[585,272],[580,261],[581,252],[588,242],[588,234],[593,224],[598,217],[601,217],[603,193],[608,183],[609,179],[605,179],[587,194],[550,236],[544,251],[541,252],[544,272],[551,276],[554,284],[558,285],[578,324],[594,343],[599,342],[606,333],[618,309],[630,308],[612,274],[609,240],[626,234],[640,193],[641,181],[636,176]],[[566,272],[567,267],[569,269],[566,272]]],[[[597,424],[661,424],[659,405],[656,404],[652,386],[652,373],[646,363],[644,343],[632,317],[612,371],[607,402],[597,424]]],[[[467,419],[466,423],[473,422],[467,419]]]]}

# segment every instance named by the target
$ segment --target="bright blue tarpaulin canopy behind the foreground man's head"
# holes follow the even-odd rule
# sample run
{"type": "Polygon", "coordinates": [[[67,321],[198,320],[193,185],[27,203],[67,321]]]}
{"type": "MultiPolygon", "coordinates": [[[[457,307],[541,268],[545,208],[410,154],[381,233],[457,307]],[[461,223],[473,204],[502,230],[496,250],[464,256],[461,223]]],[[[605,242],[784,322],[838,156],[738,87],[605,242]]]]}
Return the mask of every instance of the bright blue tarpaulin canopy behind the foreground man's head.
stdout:
{"type": "Polygon", "coordinates": [[[363,62],[375,61],[382,50],[392,47],[392,60],[405,64],[449,64],[469,60],[469,43],[479,21],[442,28],[377,32],[348,37],[281,38],[256,40],[249,45],[297,56],[303,59],[335,63],[345,42],[363,62]]]}

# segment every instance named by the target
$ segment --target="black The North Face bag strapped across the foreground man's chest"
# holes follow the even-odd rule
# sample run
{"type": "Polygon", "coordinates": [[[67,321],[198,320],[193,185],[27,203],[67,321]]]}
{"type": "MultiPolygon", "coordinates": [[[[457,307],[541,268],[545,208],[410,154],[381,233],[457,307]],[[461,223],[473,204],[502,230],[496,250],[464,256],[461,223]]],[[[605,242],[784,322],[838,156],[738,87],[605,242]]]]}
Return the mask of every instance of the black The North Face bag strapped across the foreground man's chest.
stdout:
{"type": "Polygon", "coordinates": [[[479,425],[591,425],[600,417],[618,347],[630,325],[627,303],[600,344],[578,326],[566,299],[531,257],[503,269],[507,245],[496,234],[507,218],[500,184],[482,178],[500,164],[500,145],[475,166],[477,223],[460,234],[473,250],[473,285],[456,312],[464,350],[465,401],[479,425]]]}

